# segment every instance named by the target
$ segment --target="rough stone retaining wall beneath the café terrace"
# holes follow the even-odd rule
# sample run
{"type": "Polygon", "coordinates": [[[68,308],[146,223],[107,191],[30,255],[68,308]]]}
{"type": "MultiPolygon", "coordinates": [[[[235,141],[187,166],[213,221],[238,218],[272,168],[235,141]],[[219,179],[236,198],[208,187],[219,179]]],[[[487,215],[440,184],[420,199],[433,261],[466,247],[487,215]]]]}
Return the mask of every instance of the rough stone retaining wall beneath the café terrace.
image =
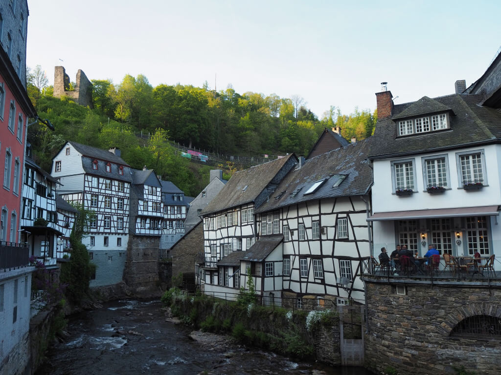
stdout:
{"type": "Polygon", "coordinates": [[[457,281],[406,283],[406,295],[395,284],[366,280],[366,366],[398,373],[454,374],[464,366],[476,375],[494,375],[501,367],[499,337],[451,335],[464,318],[491,315],[501,318],[501,287],[482,287],[457,281]]]}

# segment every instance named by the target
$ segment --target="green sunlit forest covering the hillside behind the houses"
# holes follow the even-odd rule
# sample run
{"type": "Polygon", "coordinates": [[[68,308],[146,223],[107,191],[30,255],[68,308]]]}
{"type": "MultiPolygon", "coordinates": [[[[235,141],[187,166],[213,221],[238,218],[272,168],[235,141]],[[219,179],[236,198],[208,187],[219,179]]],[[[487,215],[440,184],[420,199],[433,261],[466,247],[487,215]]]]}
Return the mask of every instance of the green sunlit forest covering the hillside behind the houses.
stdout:
{"type": "MultiPolygon", "coordinates": [[[[93,79],[90,109],[67,97],[53,97],[40,65],[28,70],[27,80],[39,117],[55,126],[55,131],[43,124],[29,128],[35,159],[44,169],[50,170],[52,157],[67,140],[104,149],[116,146],[132,167],[154,168],[192,196],[208,182],[210,167],[190,164],[169,140],[221,154],[308,154],[325,127],[339,126],[346,139],[363,139],[373,133],[376,122],[376,113],[355,108],[346,115],[335,106],[319,119],[299,95],[239,94],[231,87],[214,91],[206,83],[153,87],[144,75],[126,75],[118,84],[93,79]],[[138,138],[135,133],[141,131],[150,138],[138,138]]],[[[227,174],[235,170],[222,167],[227,174]]]]}

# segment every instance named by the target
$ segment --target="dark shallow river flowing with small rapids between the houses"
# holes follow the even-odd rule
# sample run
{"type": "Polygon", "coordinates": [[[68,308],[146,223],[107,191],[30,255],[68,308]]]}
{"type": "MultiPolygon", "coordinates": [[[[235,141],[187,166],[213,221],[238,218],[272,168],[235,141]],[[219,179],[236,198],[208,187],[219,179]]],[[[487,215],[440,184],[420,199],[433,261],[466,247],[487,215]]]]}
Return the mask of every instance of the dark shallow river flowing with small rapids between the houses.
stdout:
{"type": "Polygon", "coordinates": [[[360,367],[296,361],[227,341],[193,341],[165,321],[160,301],[124,300],[73,316],[66,342],[51,348],[36,375],[328,374],[370,375],[360,367]]]}

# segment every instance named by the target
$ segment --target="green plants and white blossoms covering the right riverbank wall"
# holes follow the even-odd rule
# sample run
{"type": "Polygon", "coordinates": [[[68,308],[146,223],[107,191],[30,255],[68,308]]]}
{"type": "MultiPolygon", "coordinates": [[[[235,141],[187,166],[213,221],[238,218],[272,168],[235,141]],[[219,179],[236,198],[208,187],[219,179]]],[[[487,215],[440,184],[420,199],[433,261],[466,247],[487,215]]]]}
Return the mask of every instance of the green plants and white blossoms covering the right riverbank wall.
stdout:
{"type": "Polygon", "coordinates": [[[167,290],[162,302],[187,325],[207,332],[231,335],[238,342],[272,350],[295,358],[317,357],[320,331],[338,329],[337,311],[311,312],[277,306],[248,303],[249,296],[238,301],[213,298],[205,294],[189,295],[177,288],[167,290]]]}

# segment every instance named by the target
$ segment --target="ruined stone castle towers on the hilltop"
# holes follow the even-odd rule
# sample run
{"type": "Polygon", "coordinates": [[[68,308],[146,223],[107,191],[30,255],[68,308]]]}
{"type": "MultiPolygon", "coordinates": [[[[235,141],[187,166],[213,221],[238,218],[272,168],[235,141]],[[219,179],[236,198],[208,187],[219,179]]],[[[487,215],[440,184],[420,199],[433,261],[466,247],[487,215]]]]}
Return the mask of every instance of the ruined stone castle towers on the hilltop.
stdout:
{"type": "Polygon", "coordinates": [[[94,108],[92,102],[92,83],[82,69],[78,69],[75,89],[70,90],[70,77],[66,74],[64,66],[54,69],[54,96],[68,96],[77,104],[94,108]]]}

